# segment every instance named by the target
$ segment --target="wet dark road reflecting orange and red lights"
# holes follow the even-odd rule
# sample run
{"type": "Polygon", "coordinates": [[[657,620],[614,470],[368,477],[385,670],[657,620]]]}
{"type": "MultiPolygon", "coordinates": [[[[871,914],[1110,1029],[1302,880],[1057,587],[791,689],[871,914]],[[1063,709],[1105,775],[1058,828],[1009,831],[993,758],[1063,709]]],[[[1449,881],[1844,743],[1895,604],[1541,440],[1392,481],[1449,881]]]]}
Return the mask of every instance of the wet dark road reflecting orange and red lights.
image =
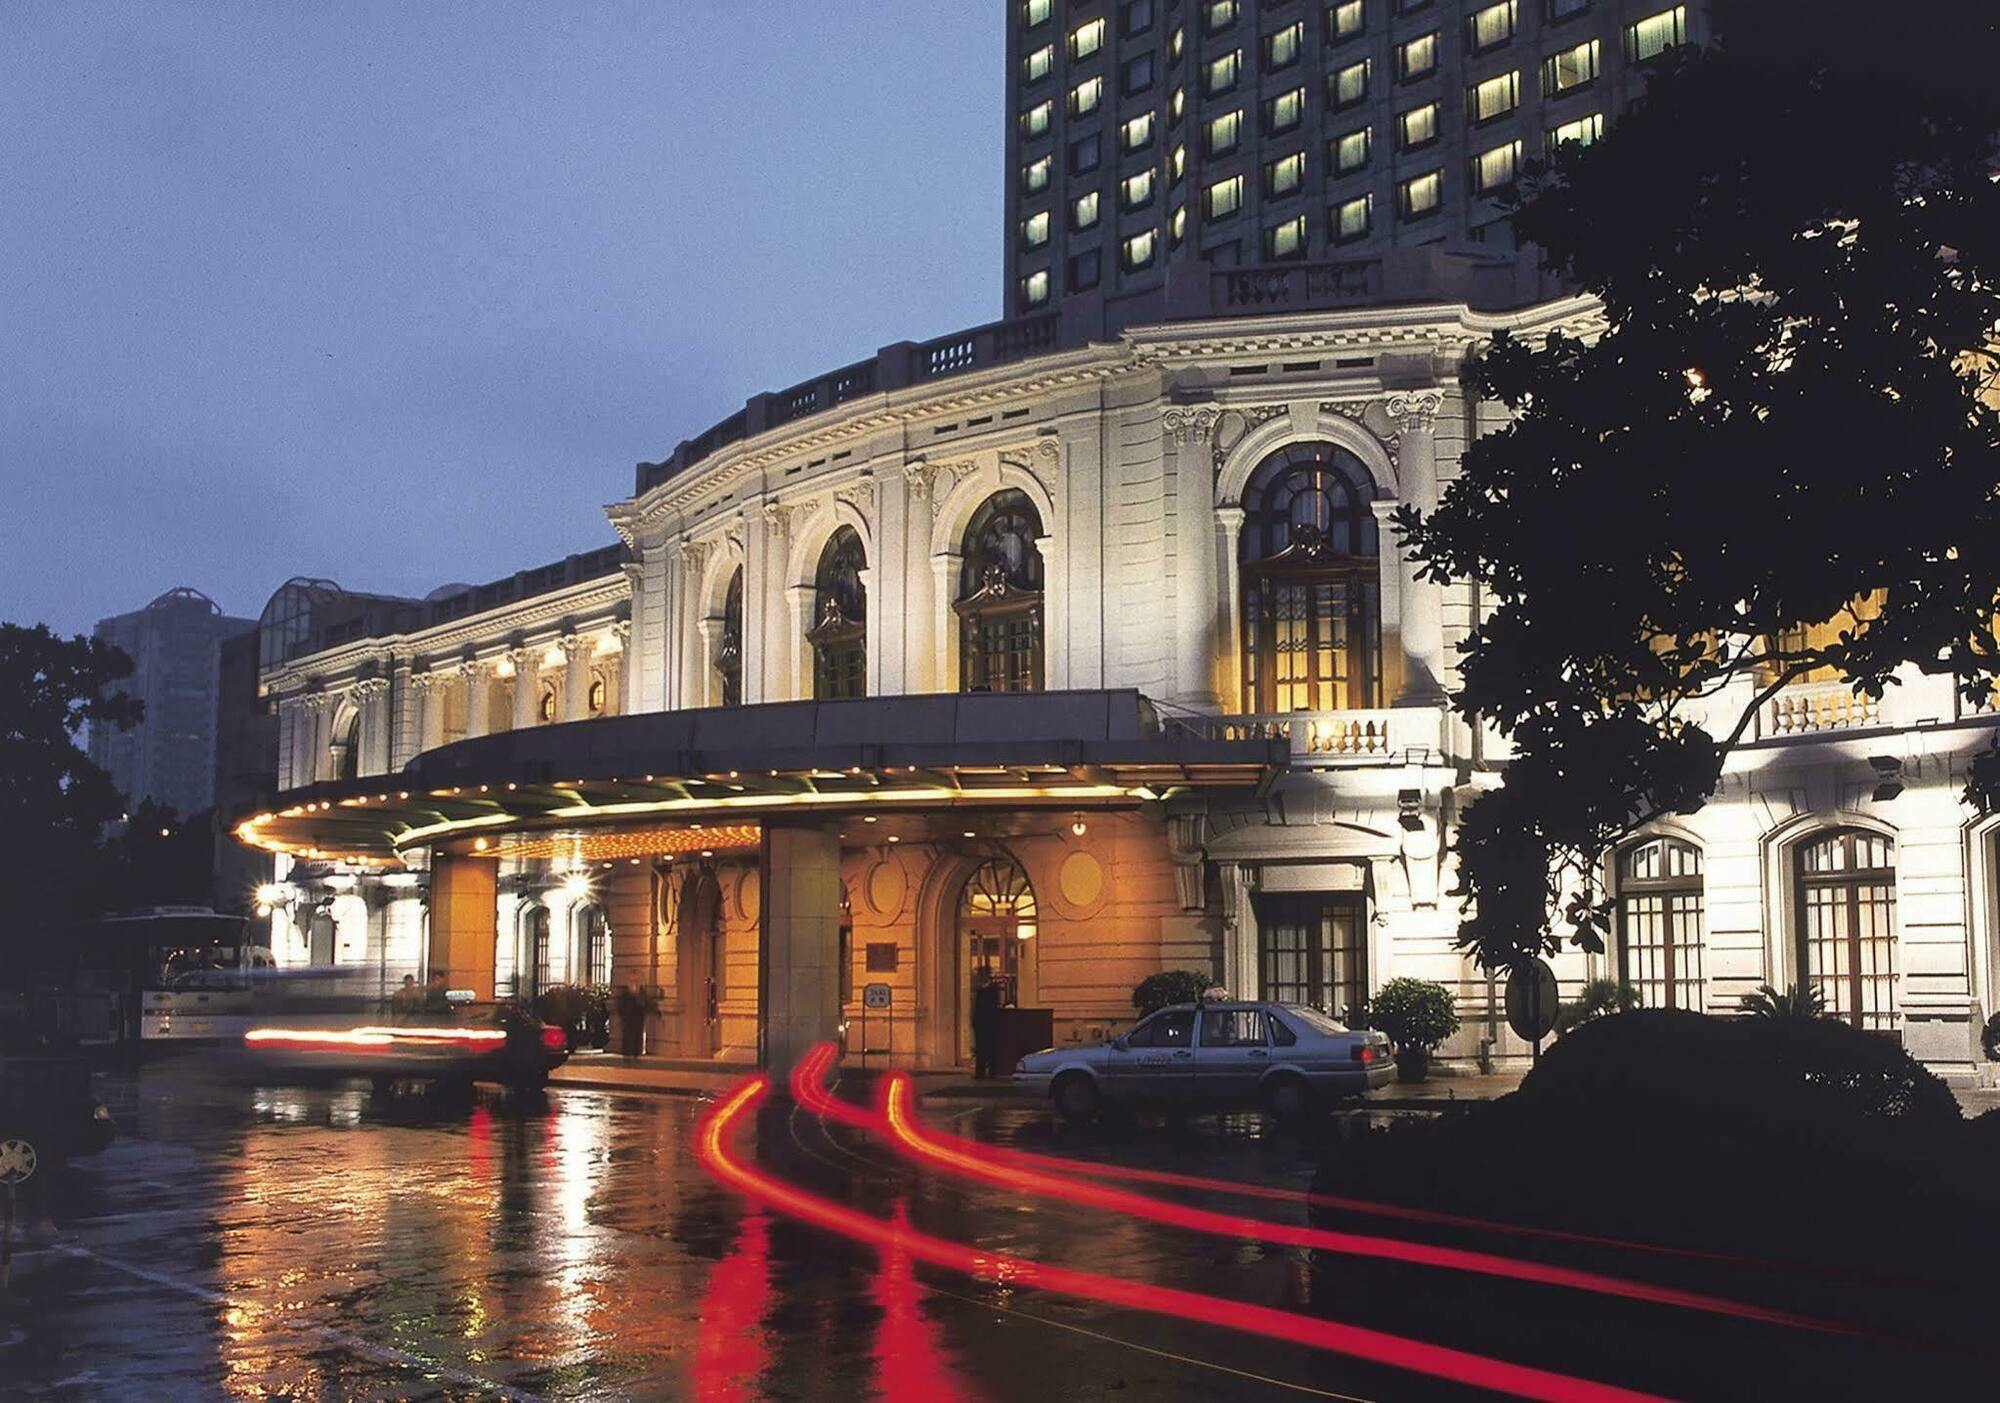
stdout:
{"type": "MultiPolygon", "coordinates": [[[[70,1249],[30,1263],[0,1299],[6,1397],[1480,1395],[1258,1339],[1214,1311],[982,1281],[798,1223],[704,1169],[704,1101],[552,1091],[438,1105],[364,1087],[228,1087],[186,1065],[108,1077],[104,1091],[124,1135],[62,1183],[70,1249]]],[[[938,1103],[926,1119],[992,1145],[1292,1191],[1322,1149],[1266,1135],[1254,1117],[1082,1139],[1024,1107],[938,1103]]],[[[1638,1303],[1594,1303],[1584,1317],[1574,1291],[1548,1285],[1410,1267],[1384,1283],[1308,1247],[918,1169],[878,1133],[786,1105],[746,1113],[726,1143],[784,1185],[930,1239],[1312,1321],[1366,1317],[1594,1381],[1756,1397],[1762,1371],[1730,1361],[1756,1353],[1782,1375],[1794,1351],[1808,1371],[1798,1381],[1816,1375],[1820,1397],[1842,1395],[1842,1379],[1862,1397],[1884,1369],[1930,1377],[1928,1357],[1772,1325],[1638,1303]],[[1842,1351],[1856,1349],[1850,1371],[1842,1351]]],[[[1306,1223],[1286,1201],[1172,1199],[1306,1223]]]]}

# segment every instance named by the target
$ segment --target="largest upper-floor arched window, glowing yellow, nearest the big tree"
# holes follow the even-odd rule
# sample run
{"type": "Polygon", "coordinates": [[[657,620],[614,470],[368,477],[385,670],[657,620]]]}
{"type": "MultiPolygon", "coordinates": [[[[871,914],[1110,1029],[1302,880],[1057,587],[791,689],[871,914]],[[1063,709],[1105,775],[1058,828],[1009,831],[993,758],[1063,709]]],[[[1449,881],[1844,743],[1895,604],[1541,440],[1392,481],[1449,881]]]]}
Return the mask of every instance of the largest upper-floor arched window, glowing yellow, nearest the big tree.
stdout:
{"type": "Polygon", "coordinates": [[[1244,488],[1244,709],[1380,705],[1382,572],[1368,472],[1332,444],[1292,444],[1244,488]]]}

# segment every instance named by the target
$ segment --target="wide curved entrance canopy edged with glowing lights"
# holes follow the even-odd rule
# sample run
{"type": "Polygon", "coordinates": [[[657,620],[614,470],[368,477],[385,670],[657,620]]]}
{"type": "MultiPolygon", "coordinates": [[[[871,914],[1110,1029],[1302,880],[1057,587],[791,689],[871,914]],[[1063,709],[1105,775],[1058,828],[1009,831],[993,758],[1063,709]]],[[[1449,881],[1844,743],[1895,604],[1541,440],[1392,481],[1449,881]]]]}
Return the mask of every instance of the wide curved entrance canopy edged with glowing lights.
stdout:
{"type": "MultiPolygon", "coordinates": [[[[236,835],[314,861],[398,865],[432,845],[526,855],[580,833],[810,813],[1136,807],[1262,789],[1286,761],[1282,739],[1166,731],[1138,692],[784,702],[480,735],[396,775],[294,789],[236,835]]],[[[648,851],[654,833],[640,839],[648,851]]]]}

